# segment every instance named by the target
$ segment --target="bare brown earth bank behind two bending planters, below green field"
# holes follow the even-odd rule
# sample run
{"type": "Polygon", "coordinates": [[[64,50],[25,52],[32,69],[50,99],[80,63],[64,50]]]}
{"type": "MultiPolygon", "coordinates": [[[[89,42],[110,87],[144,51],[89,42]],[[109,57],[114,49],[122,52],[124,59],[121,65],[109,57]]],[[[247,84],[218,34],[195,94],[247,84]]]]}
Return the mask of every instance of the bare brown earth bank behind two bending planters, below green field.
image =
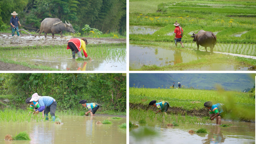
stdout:
{"type": "MultiPolygon", "coordinates": [[[[143,105],[143,104],[133,104],[129,103],[129,109],[142,109],[142,110],[152,110],[157,111],[155,107],[151,107],[149,105],[143,105]]],[[[169,107],[167,110],[167,113],[173,113],[173,114],[181,114],[185,116],[187,114],[188,116],[196,116],[196,117],[210,117],[209,111],[206,109],[201,110],[184,110],[181,107],[169,107]]],[[[255,122],[255,120],[243,120],[244,122],[255,122]]]]}

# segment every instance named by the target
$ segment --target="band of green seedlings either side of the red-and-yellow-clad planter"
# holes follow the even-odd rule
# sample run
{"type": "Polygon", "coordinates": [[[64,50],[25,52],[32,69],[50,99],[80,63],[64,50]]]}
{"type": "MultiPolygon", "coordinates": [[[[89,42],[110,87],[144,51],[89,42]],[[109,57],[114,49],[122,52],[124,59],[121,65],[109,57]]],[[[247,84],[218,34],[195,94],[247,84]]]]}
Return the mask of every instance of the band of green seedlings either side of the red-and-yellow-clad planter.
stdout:
{"type": "MultiPolygon", "coordinates": [[[[51,45],[51,46],[24,46],[24,47],[1,47],[1,58],[9,57],[70,57],[71,50],[67,50],[67,45],[51,45]]],[[[115,61],[124,61],[126,58],[126,44],[101,44],[88,45],[86,52],[89,57],[96,59],[107,59],[115,61]]]]}

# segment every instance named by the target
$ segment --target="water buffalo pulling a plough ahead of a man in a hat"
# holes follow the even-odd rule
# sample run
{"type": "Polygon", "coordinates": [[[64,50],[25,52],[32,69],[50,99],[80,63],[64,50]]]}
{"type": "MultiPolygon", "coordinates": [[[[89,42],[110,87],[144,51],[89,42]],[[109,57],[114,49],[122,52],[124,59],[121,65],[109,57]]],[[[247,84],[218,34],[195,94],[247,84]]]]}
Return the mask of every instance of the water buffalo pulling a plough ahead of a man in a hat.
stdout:
{"type": "Polygon", "coordinates": [[[41,22],[39,37],[43,31],[45,31],[45,38],[48,33],[52,33],[52,38],[54,38],[54,34],[61,34],[61,37],[63,37],[63,35],[62,35],[63,30],[70,32],[70,33],[76,32],[76,31],[74,31],[72,25],[69,22],[67,23],[65,21],[65,24],[64,24],[58,18],[45,18],[41,22]]]}

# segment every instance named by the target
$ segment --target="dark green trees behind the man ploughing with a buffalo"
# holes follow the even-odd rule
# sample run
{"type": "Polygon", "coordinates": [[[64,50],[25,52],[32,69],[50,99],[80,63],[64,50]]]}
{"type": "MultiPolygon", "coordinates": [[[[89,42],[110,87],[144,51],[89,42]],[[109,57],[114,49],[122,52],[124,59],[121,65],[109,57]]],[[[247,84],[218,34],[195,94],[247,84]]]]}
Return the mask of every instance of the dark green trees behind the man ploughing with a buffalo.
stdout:
{"type": "Polygon", "coordinates": [[[82,34],[86,24],[103,33],[126,33],[126,0],[1,0],[0,30],[10,25],[13,11],[21,25],[33,28],[45,18],[59,18],[82,34]]]}

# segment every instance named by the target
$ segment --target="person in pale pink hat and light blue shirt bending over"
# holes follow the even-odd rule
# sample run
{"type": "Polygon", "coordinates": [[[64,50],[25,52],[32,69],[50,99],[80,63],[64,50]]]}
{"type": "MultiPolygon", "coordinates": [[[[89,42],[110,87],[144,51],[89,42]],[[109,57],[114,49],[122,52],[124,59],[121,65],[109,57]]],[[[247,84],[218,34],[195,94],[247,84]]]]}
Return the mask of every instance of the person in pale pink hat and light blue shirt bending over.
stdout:
{"type": "Polygon", "coordinates": [[[33,113],[39,113],[45,110],[45,120],[48,120],[48,113],[51,113],[52,121],[55,121],[55,111],[57,107],[57,102],[51,96],[39,96],[37,93],[32,95],[30,102],[37,102],[39,103],[40,107],[36,109],[33,113]]]}

